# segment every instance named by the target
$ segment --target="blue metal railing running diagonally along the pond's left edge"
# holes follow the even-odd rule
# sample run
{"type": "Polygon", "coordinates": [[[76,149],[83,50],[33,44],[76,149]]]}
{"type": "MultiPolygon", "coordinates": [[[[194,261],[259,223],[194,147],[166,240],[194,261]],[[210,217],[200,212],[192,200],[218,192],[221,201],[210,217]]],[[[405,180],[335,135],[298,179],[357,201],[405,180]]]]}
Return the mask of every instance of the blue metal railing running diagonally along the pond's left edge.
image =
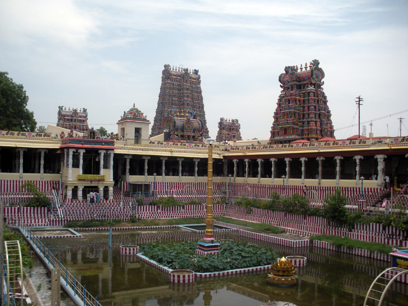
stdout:
{"type": "Polygon", "coordinates": [[[97,301],[97,297],[93,297],[85,288],[77,281],[77,275],[72,275],[68,268],[65,267],[61,260],[57,259],[53,253],[49,252],[49,248],[41,242],[37,236],[34,236],[33,231],[30,227],[25,225],[21,220],[19,220],[20,231],[26,236],[27,240],[31,242],[33,247],[35,247],[44,259],[46,263],[52,268],[58,268],[61,272],[61,285],[65,286],[68,290],[71,291],[74,297],[82,301],[84,306],[101,306],[97,301]]]}

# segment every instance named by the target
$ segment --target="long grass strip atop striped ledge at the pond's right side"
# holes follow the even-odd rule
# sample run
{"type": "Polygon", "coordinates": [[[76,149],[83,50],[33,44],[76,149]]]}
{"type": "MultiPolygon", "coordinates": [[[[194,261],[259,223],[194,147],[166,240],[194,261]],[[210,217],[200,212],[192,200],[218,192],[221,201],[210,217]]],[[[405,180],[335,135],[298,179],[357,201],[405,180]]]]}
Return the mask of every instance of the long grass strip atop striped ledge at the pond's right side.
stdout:
{"type": "MultiPolygon", "coordinates": [[[[392,245],[386,245],[378,242],[367,242],[361,240],[350,239],[347,237],[342,238],[341,236],[332,235],[315,235],[309,238],[311,241],[319,240],[326,241],[335,246],[346,246],[348,248],[362,248],[369,251],[375,251],[380,253],[391,253],[392,245]]],[[[398,247],[397,247],[398,248],[398,247]]]]}

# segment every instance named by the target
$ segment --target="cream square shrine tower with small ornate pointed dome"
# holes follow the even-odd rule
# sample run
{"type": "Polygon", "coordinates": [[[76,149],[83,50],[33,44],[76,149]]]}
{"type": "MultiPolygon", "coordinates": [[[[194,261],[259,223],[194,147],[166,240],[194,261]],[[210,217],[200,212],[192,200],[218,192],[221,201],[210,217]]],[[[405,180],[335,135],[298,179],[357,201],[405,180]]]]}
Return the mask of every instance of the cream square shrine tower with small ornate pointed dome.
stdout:
{"type": "Polygon", "coordinates": [[[141,144],[149,139],[149,124],[145,116],[135,104],[127,111],[123,112],[118,122],[118,137],[129,144],[141,144]]]}

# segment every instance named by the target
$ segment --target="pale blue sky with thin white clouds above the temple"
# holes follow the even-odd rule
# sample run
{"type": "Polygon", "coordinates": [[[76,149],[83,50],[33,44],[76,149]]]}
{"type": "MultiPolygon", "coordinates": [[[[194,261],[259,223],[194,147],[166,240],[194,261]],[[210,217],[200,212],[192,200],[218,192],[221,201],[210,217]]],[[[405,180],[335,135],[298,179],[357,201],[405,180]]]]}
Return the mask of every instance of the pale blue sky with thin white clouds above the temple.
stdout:
{"type": "Polygon", "coordinates": [[[406,111],[374,120],[374,136],[399,135],[400,117],[408,135],[408,1],[0,2],[0,71],[23,84],[37,125],[56,124],[58,106],[87,108],[90,126],[117,133],[135,104],[151,126],[170,64],[199,70],[211,137],[224,117],[265,139],[279,74],[314,59],[336,138],[358,134],[358,96],[361,122],[406,111]]]}

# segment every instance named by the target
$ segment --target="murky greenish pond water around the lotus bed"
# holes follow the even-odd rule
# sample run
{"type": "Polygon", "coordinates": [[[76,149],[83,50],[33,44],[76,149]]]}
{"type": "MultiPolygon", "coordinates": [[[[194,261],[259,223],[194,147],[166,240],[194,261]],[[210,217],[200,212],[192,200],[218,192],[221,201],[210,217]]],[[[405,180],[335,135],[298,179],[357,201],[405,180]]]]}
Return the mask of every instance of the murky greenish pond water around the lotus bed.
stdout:
{"type": "MultiPolygon", "coordinates": [[[[198,240],[201,234],[184,231],[118,233],[108,246],[106,233],[84,232],[82,239],[43,239],[50,251],[77,275],[87,290],[103,305],[184,306],[249,305],[284,300],[301,305],[362,305],[375,276],[389,263],[314,247],[289,248],[238,236],[215,233],[216,239],[234,239],[277,248],[280,256],[299,255],[308,265],[298,267],[298,284],[281,288],[268,285],[268,272],[215,278],[193,284],[169,283],[167,274],[132,256],[119,253],[123,244],[155,241],[198,240]]],[[[388,305],[406,305],[408,285],[394,283],[388,305]]]]}

